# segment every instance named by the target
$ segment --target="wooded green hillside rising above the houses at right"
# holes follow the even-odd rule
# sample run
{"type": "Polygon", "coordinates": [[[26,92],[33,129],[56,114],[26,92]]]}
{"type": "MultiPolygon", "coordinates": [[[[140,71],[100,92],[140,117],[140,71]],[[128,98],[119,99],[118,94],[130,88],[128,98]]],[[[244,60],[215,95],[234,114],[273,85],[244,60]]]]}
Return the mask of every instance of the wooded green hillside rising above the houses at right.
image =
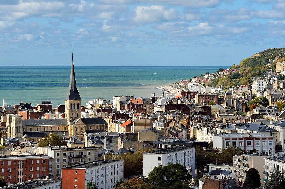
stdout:
{"type": "Polygon", "coordinates": [[[250,84],[253,77],[264,78],[265,71],[270,71],[270,69],[275,71],[276,62],[273,63],[273,61],[276,55],[280,56],[280,61],[285,60],[284,54],[281,53],[283,51],[285,51],[285,48],[266,49],[256,53],[250,58],[245,58],[239,65],[236,66],[233,64],[233,66],[230,67],[231,69],[237,69],[237,72],[225,77],[215,78],[209,82],[207,86],[217,87],[223,85],[223,88],[228,89],[236,87],[239,84],[250,84]],[[271,61],[269,61],[269,59],[271,59],[271,61]],[[268,66],[269,63],[271,63],[270,66],[268,66]]]}

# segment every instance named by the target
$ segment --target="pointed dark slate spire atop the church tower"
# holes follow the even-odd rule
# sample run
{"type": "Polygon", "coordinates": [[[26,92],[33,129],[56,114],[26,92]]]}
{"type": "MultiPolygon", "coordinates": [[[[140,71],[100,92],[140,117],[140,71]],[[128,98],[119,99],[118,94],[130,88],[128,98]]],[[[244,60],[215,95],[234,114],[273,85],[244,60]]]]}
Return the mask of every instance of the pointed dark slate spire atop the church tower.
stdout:
{"type": "Polygon", "coordinates": [[[65,100],[81,100],[81,97],[76,87],[76,80],[75,80],[75,73],[74,73],[74,66],[73,66],[73,52],[72,52],[72,63],[71,63],[69,88],[65,96],[65,100]]]}

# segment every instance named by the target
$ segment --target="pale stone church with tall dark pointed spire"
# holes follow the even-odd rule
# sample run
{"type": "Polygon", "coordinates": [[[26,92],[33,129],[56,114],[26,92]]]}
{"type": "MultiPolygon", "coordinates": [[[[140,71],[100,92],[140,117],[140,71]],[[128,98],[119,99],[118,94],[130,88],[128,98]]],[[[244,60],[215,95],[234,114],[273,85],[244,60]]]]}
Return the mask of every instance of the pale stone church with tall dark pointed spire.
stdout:
{"type": "Polygon", "coordinates": [[[73,54],[69,88],[64,101],[64,119],[22,119],[21,115],[7,115],[7,138],[24,137],[26,141],[38,142],[53,132],[64,138],[75,135],[84,141],[85,133],[108,131],[108,123],[103,118],[81,118],[81,97],[76,87],[73,54]]]}

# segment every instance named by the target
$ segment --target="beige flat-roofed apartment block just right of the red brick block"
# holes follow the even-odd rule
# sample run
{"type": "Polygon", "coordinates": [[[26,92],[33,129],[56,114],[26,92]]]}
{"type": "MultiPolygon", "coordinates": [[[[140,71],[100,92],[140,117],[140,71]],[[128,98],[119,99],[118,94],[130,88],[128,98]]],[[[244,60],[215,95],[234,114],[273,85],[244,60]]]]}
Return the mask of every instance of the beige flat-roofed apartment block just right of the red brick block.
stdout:
{"type": "Polygon", "coordinates": [[[68,165],[97,161],[104,153],[103,147],[72,148],[66,146],[38,147],[37,154],[45,154],[52,159],[49,160],[48,173],[54,176],[62,176],[61,170],[68,165]]]}

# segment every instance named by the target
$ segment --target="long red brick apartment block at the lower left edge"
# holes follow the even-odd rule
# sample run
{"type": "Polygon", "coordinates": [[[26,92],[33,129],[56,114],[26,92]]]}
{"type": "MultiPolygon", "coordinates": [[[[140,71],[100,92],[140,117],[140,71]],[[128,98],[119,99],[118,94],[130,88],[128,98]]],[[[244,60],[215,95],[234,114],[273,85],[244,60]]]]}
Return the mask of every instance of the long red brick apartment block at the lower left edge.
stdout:
{"type": "Polygon", "coordinates": [[[1,156],[1,173],[7,184],[14,184],[48,176],[46,155],[1,156]]]}

